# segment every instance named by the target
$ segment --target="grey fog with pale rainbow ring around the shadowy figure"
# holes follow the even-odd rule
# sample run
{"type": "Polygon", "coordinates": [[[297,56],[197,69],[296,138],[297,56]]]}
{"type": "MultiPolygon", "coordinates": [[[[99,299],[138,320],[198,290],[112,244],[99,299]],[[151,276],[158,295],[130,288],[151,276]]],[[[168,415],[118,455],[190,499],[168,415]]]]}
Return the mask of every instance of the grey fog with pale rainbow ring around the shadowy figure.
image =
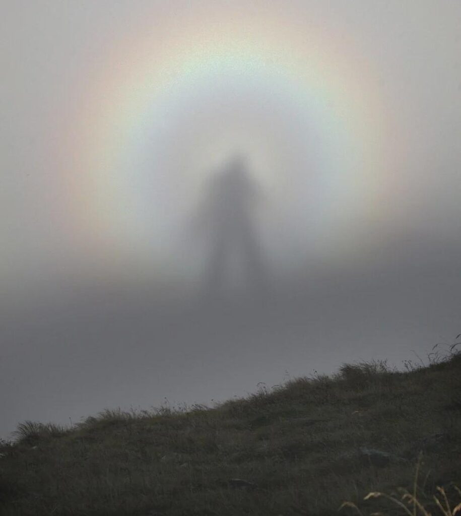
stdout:
{"type": "Polygon", "coordinates": [[[461,4],[249,4],[2,2],[1,436],[461,332],[461,4]]]}

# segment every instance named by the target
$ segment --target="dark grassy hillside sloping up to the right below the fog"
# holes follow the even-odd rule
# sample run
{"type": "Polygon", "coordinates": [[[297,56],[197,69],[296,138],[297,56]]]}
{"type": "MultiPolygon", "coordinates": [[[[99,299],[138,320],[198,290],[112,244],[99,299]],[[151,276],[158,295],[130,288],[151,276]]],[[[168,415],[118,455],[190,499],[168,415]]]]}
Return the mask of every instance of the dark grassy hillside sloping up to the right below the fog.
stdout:
{"type": "Polygon", "coordinates": [[[442,514],[437,486],[452,508],[461,501],[461,355],[406,365],[343,365],[213,409],[105,411],[71,429],[26,422],[0,446],[0,513],[326,515],[350,501],[363,514],[416,514],[363,499],[400,500],[401,486],[442,514]]]}

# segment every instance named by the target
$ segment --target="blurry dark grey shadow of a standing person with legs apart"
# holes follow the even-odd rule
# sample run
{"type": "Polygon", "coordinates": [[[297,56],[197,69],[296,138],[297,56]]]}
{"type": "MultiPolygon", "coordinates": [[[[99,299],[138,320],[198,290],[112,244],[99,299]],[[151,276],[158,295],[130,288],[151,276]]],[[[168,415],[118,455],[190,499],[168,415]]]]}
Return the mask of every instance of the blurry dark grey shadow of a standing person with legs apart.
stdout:
{"type": "Polygon", "coordinates": [[[242,156],[236,155],[210,180],[202,206],[208,224],[206,295],[222,295],[229,287],[230,259],[237,257],[245,290],[265,288],[264,264],[254,228],[254,208],[259,200],[242,156]]]}

